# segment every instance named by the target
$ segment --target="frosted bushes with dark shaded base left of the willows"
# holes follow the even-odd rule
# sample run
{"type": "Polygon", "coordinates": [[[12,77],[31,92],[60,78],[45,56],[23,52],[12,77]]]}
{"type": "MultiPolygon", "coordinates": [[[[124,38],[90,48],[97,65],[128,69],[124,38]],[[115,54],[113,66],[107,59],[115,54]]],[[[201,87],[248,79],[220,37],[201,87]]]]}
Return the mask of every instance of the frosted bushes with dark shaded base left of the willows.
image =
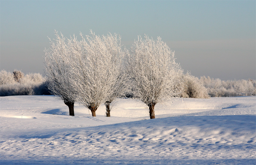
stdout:
{"type": "Polygon", "coordinates": [[[46,79],[39,73],[24,75],[21,71],[13,73],[1,70],[0,96],[49,95],[46,79]]]}

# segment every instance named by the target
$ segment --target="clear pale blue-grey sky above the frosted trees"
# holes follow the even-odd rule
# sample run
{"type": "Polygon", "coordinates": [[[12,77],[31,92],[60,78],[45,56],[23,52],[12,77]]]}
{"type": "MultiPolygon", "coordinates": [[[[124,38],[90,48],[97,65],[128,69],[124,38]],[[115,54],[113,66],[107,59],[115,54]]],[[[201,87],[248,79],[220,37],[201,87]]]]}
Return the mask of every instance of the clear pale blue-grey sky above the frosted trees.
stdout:
{"type": "Polygon", "coordinates": [[[256,79],[256,1],[0,1],[0,69],[44,74],[54,30],[64,36],[158,36],[184,73],[256,79]]]}

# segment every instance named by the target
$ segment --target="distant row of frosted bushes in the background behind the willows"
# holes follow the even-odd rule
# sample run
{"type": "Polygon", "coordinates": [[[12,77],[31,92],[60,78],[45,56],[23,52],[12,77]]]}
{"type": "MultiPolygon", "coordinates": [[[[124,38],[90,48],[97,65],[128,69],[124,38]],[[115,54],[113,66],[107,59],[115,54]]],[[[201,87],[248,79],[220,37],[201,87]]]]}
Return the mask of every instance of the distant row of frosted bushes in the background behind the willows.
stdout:
{"type": "MultiPolygon", "coordinates": [[[[190,74],[181,76],[183,92],[177,97],[207,98],[236,97],[256,95],[256,80],[226,80],[202,76],[200,79],[190,74]],[[204,88],[205,87],[205,88],[204,88]],[[207,95],[207,92],[208,95],[207,95]]],[[[47,79],[40,73],[24,74],[20,70],[12,73],[5,70],[0,72],[0,96],[13,95],[50,95],[47,79]]],[[[126,97],[133,97],[130,93],[126,97]]]]}

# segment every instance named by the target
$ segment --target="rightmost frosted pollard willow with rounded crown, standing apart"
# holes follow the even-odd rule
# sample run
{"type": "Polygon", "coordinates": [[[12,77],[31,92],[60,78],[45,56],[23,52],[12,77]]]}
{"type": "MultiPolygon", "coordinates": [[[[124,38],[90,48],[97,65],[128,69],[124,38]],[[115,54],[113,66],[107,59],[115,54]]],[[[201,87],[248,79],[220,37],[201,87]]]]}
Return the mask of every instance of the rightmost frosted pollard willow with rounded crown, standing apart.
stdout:
{"type": "Polygon", "coordinates": [[[150,119],[155,118],[155,105],[179,95],[183,70],[175,63],[174,52],[158,37],[145,36],[126,50],[126,68],[133,84],[134,96],[149,107],[150,119]]]}

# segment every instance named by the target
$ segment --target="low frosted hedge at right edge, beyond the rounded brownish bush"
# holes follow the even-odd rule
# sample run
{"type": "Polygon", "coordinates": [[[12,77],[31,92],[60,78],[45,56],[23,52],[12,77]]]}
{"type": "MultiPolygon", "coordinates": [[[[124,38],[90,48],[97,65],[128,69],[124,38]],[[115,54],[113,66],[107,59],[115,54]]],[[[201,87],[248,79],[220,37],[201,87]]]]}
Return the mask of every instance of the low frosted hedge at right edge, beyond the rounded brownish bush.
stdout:
{"type": "Polygon", "coordinates": [[[205,76],[200,78],[211,97],[235,97],[256,95],[256,81],[213,79],[205,76]]]}

